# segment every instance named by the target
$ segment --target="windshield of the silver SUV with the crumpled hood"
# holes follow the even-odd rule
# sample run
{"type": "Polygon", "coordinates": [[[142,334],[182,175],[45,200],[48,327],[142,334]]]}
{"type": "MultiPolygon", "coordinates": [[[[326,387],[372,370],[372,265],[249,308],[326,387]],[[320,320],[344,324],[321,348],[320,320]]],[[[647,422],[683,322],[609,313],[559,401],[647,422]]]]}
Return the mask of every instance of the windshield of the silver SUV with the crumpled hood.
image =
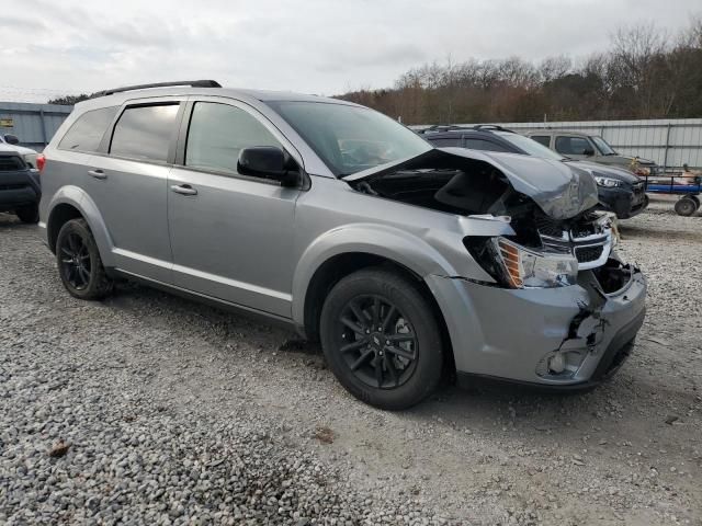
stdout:
{"type": "Polygon", "coordinates": [[[337,176],[416,157],[432,147],[367,107],[327,102],[269,102],[337,176]]]}

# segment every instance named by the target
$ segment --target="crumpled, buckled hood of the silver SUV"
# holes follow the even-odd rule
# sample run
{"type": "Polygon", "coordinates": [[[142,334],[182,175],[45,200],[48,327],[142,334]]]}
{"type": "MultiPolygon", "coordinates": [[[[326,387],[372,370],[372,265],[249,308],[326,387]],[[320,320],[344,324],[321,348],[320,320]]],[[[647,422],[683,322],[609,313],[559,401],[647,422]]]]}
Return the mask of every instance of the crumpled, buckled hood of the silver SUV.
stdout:
{"type": "Polygon", "coordinates": [[[598,204],[597,184],[587,170],[537,157],[465,148],[433,148],[419,156],[381,164],[341,179],[353,182],[398,170],[460,169],[462,159],[494,165],[505,174],[517,192],[531,197],[553,219],[569,219],[598,204]]]}

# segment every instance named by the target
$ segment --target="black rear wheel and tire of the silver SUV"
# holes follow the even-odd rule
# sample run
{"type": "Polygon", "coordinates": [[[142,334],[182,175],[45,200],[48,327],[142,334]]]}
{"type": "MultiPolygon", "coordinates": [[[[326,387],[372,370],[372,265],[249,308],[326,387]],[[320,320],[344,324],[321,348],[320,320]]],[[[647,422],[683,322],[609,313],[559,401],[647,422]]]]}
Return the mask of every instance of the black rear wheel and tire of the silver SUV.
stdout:
{"type": "Polygon", "coordinates": [[[84,219],[67,221],[56,238],[56,262],[66,290],[78,299],[102,299],[112,293],[95,239],[84,219]]]}

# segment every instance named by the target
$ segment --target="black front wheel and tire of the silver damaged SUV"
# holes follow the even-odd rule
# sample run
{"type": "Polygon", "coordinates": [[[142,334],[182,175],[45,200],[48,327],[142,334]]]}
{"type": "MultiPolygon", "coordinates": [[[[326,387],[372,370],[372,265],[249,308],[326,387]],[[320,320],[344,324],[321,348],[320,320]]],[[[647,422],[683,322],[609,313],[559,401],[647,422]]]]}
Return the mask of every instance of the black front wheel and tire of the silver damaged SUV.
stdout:
{"type": "Polygon", "coordinates": [[[410,279],[367,268],[341,279],[321,310],[329,368],[351,395],[401,410],[424,400],[441,379],[441,332],[429,301],[410,279]]]}

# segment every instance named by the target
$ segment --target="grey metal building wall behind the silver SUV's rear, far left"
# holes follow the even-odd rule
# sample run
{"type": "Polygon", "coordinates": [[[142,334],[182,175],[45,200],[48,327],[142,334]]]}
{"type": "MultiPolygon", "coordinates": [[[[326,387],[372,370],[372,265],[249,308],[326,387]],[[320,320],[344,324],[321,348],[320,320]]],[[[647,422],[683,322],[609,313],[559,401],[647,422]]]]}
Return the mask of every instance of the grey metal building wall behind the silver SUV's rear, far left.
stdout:
{"type": "Polygon", "coordinates": [[[73,106],[0,102],[0,135],[16,135],[22,146],[42,151],[73,106]]]}

